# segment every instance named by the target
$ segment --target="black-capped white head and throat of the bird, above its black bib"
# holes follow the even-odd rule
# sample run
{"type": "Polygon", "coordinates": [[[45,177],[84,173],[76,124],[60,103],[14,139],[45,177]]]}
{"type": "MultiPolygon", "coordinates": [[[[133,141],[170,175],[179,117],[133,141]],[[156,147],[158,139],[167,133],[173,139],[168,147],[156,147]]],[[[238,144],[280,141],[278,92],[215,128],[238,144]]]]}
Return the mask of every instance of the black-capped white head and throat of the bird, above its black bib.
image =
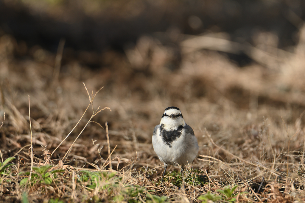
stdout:
{"type": "Polygon", "coordinates": [[[180,110],[170,108],[164,111],[160,124],[165,130],[176,130],[180,125],[185,126],[185,121],[180,110]]]}

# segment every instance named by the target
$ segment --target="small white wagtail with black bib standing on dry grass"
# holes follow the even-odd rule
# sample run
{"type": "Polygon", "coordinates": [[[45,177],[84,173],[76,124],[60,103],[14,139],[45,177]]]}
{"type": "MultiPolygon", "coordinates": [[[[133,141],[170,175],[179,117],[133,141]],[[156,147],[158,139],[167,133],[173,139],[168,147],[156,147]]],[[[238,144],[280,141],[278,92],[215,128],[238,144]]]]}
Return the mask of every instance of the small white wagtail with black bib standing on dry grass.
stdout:
{"type": "Polygon", "coordinates": [[[161,182],[168,165],[179,165],[183,170],[194,161],[199,149],[193,129],[185,123],[177,107],[165,109],[160,124],[153,131],[152,146],[165,164],[161,182]]]}

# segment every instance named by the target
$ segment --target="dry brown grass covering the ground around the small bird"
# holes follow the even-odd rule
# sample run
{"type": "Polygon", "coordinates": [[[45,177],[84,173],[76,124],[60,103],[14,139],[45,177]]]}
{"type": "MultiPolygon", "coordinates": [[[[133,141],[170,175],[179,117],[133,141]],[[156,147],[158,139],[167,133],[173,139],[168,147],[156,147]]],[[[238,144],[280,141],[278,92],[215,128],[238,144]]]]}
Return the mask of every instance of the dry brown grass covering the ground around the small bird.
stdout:
{"type": "Polygon", "coordinates": [[[220,189],[238,184],[235,199],[217,201],[305,201],[304,28],[300,36],[288,53],[232,44],[223,34],[179,35],[180,68],[175,47],[142,37],[127,58],[105,53],[109,66],[98,70],[77,60],[60,67],[61,56],[43,49],[17,58],[18,43],[2,36],[0,149],[2,162],[16,159],[1,171],[1,200],[200,202],[200,195],[219,197],[220,189]],[[256,62],[239,68],[215,50],[242,50],[256,62]],[[197,170],[170,167],[169,181],[160,183],[163,166],[151,136],[172,105],[198,138],[197,170]],[[30,171],[34,179],[25,187],[30,171]]]}

